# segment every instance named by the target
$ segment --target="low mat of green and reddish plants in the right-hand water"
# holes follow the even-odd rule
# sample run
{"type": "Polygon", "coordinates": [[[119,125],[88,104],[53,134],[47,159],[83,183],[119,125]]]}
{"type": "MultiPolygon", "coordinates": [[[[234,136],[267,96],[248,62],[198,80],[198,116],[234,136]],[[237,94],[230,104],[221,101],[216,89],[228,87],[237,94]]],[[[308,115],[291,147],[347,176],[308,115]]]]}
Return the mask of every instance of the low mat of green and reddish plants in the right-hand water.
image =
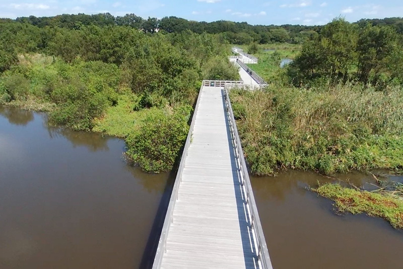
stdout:
{"type": "Polygon", "coordinates": [[[334,201],[341,212],[366,213],[368,216],[386,219],[394,228],[403,228],[403,200],[389,194],[378,194],[342,187],[339,184],[324,184],[312,189],[319,195],[334,201]]]}

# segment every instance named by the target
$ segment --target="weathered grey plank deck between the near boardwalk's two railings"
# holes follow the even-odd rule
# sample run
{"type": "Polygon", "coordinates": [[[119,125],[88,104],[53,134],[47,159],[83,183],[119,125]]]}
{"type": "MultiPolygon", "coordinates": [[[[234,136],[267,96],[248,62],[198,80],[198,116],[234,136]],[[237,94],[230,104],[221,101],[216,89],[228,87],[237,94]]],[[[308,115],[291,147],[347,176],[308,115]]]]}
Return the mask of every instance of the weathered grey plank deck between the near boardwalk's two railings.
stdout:
{"type": "Polygon", "coordinates": [[[161,268],[257,268],[222,88],[199,102],[161,268]]]}

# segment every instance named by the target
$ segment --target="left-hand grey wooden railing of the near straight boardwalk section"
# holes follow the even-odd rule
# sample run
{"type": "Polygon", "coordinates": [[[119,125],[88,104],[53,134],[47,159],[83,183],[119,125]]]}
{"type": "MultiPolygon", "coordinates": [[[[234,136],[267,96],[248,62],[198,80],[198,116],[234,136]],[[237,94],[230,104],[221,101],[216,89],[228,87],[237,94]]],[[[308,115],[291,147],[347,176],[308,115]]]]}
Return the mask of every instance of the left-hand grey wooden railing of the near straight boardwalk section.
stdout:
{"type": "Polygon", "coordinates": [[[198,107],[199,107],[199,104],[200,104],[200,96],[201,96],[200,93],[201,93],[201,89],[203,89],[203,86],[204,86],[204,81],[203,81],[203,83],[201,83],[200,91],[199,91],[197,101],[196,101],[196,106],[194,107],[192,121],[190,123],[189,132],[187,133],[185,146],[183,148],[183,152],[182,152],[182,156],[181,156],[181,160],[180,160],[180,165],[179,165],[179,168],[178,168],[178,172],[176,174],[175,183],[174,183],[173,188],[172,188],[171,198],[169,199],[169,205],[168,205],[167,213],[165,215],[164,225],[162,227],[160,240],[158,242],[157,251],[155,253],[153,269],[161,268],[162,257],[163,257],[163,254],[166,252],[166,242],[167,242],[167,238],[168,238],[169,227],[170,227],[170,224],[173,221],[173,209],[175,207],[176,200],[178,199],[179,184],[182,181],[182,174],[183,174],[183,170],[185,168],[184,159],[187,156],[187,151],[188,151],[189,146],[190,146],[191,134],[193,133],[194,123],[196,121],[195,116],[197,114],[198,107]]]}

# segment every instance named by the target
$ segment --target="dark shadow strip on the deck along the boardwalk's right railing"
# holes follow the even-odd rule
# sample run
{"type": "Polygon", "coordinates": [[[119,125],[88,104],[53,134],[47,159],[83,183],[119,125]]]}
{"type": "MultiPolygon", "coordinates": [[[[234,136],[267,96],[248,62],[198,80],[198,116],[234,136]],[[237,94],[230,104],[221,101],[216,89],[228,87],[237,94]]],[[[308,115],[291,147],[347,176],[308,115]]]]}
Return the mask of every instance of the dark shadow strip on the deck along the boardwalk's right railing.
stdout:
{"type": "Polygon", "coordinates": [[[227,113],[227,106],[225,103],[224,90],[222,90],[222,101],[223,101],[223,109],[225,115],[225,124],[227,126],[227,137],[228,137],[228,145],[230,149],[231,156],[231,167],[232,167],[232,178],[234,181],[234,191],[236,198],[236,205],[238,210],[239,217],[239,228],[241,231],[241,239],[242,239],[242,248],[243,254],[245,258],[245,268],[247,269],[257,269],[259,268],[259,264],[257,261],[257,255],[255,253],[255,241],[253,237],[253,231],[251,230],[250,225],[250,212],[246,205],[246,196],[243,191],[243,187],[241,185],[241,176],[240,176],[240,165],[236,161],[235,154],[235,146],[232,139],[229,123],[230,118],[227,113]]]}

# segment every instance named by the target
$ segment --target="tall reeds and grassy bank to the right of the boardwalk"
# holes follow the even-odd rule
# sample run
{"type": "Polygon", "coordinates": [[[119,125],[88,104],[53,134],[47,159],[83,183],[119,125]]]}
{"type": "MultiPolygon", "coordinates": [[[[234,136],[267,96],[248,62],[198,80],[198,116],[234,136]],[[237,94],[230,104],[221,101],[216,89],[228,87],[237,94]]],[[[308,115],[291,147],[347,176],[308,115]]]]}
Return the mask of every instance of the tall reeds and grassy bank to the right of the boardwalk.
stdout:
{"type": "Polygon", "coordinates": [[[359,86],[269,86],[230,93],[239,135],[255,175],[277,169],[323,174],[403,169],[403,91],[359,86]],[[253,105],[250,105],[253,104],[253,105]]]}

